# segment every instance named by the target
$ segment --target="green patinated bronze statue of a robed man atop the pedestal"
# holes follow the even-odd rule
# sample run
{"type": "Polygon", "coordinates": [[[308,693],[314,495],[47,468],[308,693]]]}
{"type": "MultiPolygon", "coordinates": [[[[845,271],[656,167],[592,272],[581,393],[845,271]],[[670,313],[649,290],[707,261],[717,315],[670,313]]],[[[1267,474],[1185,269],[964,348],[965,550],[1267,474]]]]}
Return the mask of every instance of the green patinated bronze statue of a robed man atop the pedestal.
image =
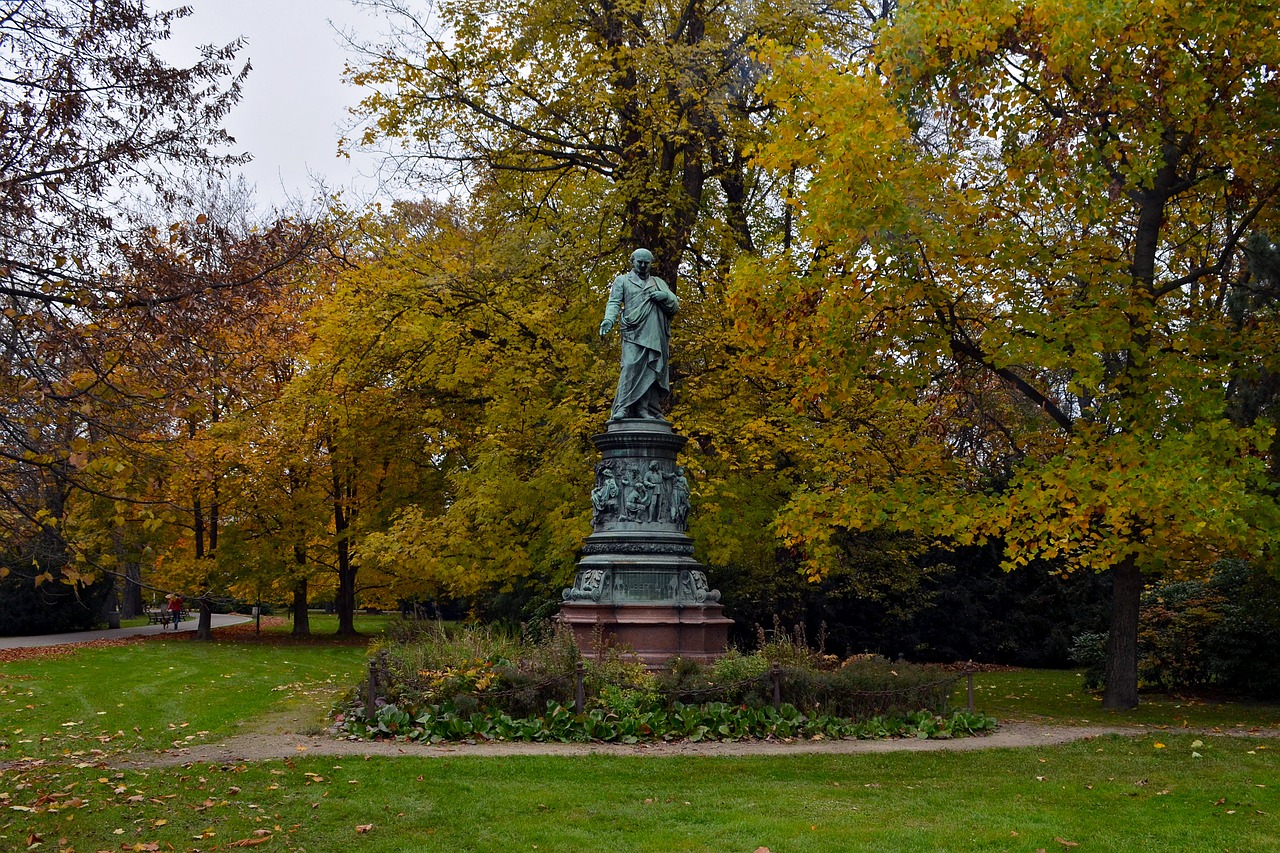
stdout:
{"type": "Polygon", "coordinates": [[[612,420],[660,419],[662,397],[671,393],[667,365],[671,318],[680,309],[680,300],[664,280],[649,273],[652,265],[653,252],[648,248],[631,254],[631,272],[613,279],[600,323],[600,337],[604,337],[621,315],[622,370],[612,420]]]}

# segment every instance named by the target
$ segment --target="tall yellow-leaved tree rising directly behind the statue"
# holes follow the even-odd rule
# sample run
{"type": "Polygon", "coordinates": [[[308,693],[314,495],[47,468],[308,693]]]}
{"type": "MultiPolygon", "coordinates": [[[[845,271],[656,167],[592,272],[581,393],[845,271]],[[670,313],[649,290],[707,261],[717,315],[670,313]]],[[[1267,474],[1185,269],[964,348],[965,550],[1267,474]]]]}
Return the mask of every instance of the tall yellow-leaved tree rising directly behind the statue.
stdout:
{"type": "MultiPolygon", "coordinates": [[[[456,439],[467,467],[452,476],[474,484],[483,511],[474,507],[467,516],[462,507],[471,505],[449,502],[457,526],[438,526],[431,537],[397,528],[379,543],[413,542],[417,553],[433,558],[465,551],[468,540],[483,543],[466,560],[485,567],[468,575],[499,587],[509,587],[498,580],[504,570],[497,556],[507,555],[504,548],[515,548],[507,565],[516,584],[563,576],[586,516],[584,462],[594,455],[588,438],[607,418],[614,370],[616,351],[594,347],[594,328],[604,284],[637,246],[654,251],[659,274],[681,295],[671,416],[678,428],[696,430],[694,469],[704,462],[716,469],[698,471],[698,479],[724,478],[726,496],[776,494],[772,483],[753,491],[741,482],[745,473],[755,474],[737,466],[733,428],[741,419],[719,416],[740,398],[755,405],[760,393],[732,370],[724,278],[740,254],[756,251],[762,241],[781,242],[788,216],[780,204],[787,178],[751,160],[773,120],[756,90],[764,67],[753,44],[771,37],[799,49],[817,37],[854,53],[892,4],[365,5],[385,12],[393,29],[357,56],[352,82],[370,93],[352,143],[387,149],[413,186],[470,200],[460,206],[466,209],[463,232],[480,234],[466,240],[481,251],[439,251],[448,257],[445,278],[466,282],[460,292],[480,288],[485,298],[445,302],[444,311],[456,314],[443,319],[462,337],[440,341],[461,339],[488,359],[489,375],[500,377],[500,384],[479,386],[476,411],[486,424],[502,425],[498,433],[472,430],[474,444],[456,439]],[[527,300],[527,313],[520,298],[527,300]],[[525,328],[515,325],[521,316],[525,328]],[[494,328],[502,339],[536,350],[493,347],[494,328]],[[468,329],[484,337],[468,339],[468,329]],[[529,359],[538,352],[548,353],[541,357],[554,369],[532,369],[529,359]],[[562,365],[579,371],[580,388],[561,378],[562,365]],[[539,421],[522,411],[545,412],[553,428],[529,428],[539,421]],[[518,439],[509,432],[517,424],[525,424],[518,439]],[[502,442],[489,442],[490,434],[502,442]],[[698,460],[700,453],[705,459],[698,460]],[[570,488],[576,496],[562,502],[566,483],[576,484],[570,488]],[[547,538],[550,528],[553,539],[547,538]],[[443,530],[452,537],[448,547],[438,547],[443,530]],[[531,547],[544,556],[530,560],[531,547]],[[554,569],[545,574],[532,566],[554,569]]],[[[732,515],[728,501],[721,506],[732,515]]],[[[428,528],[433,517],[425,514],[415,528],[428,528]]],[[[750,534],[741,525],[726,529],[736,533],[721,537],[717,555],[762,566],[773,561],[772,544],[737,547],[750,534]],[[728,542],[735,537],[737,543],[728,542]]]]}

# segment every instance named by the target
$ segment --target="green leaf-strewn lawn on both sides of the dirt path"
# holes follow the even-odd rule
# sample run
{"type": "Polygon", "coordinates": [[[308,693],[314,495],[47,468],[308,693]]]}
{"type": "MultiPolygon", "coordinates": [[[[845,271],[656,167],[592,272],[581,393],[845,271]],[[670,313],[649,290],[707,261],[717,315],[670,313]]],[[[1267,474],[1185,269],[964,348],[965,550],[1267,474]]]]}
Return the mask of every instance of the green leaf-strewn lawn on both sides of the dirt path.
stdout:
{"type": "MultiPolygon", "coordinates": [[[[1149,729],[963,753],[477,758],[462,748],[366,760],[300,751],[123,767],[175,742],[262,730],[280,715],[319,721],[362,666],[358,646],[279,635],[166,638],[0,666],[0,849],[1280,849],[1280,740],[1149,729]]],[[[1073,672],[980,674],[975,688],[978,708],[1006,719],[1152,726],[1179,715],[1247,725],[1277,716],[1266,706],[1170,701],[1100,717],[1073,672]]]]}

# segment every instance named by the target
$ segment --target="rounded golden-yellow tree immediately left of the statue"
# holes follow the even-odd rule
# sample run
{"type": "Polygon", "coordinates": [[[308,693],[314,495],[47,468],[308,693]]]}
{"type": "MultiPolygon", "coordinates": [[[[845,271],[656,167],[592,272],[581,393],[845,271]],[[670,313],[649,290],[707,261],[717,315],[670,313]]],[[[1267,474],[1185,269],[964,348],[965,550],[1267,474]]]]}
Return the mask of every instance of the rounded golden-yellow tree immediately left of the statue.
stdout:
{"type": "Polygon", "coordinates": [[[593,402],[579,383],[607,405],[589,345],[598,306],[562,275],[571,259],[483,211],[406,202],[367,216],[319,313],[305,398],[325,401],[317,429],[349,544],[337,556],[384,601],[563,585],[581,535],[590,462],[575,453],[593,402]]]}

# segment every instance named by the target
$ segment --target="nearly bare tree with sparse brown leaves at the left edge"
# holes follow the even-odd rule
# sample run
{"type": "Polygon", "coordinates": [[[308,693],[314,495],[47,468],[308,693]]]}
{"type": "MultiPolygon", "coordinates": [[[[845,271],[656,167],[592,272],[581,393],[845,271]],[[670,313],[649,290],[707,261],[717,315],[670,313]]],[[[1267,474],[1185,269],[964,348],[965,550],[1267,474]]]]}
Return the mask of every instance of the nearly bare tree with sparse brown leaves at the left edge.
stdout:
{"type": "Polygon", "coordinates": [[[92,324],[155,297],[115,274],[131,211],[173,200],[180,172],[236,161],[220,123],[247,70],[239,45],[186,68],[155,53],[186,14],[138,0],[0,10],[0,523],[5,547],[45,569],[67,561],[72,443],[119,361],[93,350],[92,324]]]}

